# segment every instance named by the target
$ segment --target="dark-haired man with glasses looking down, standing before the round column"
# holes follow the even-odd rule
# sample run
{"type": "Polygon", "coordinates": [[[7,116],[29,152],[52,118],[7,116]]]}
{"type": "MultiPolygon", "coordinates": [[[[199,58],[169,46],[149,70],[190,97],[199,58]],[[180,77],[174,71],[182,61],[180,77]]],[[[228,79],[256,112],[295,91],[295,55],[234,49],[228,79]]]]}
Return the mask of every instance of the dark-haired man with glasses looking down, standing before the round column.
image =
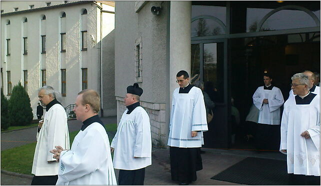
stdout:
{"type": "Polygon", "coordinates": [[[171,179],[181,185],[196,180],[202,169],[200,147],[207,131],[206,109],[201,89],[189,84],[185,70],[176,74],[177,87],[172,94],[168,143],[171,179]]]}

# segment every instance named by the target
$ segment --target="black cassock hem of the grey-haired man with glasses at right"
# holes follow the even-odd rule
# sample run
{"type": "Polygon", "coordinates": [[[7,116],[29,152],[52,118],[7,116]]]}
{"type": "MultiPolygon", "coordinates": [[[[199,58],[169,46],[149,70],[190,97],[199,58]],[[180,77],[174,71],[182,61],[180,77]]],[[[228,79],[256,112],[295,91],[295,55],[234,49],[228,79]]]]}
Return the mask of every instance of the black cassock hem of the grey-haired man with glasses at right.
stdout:
{"type": "Polygon", "coordinates": [[[320,185],[320,176],[290,173],[289,185],[320,185]]]}

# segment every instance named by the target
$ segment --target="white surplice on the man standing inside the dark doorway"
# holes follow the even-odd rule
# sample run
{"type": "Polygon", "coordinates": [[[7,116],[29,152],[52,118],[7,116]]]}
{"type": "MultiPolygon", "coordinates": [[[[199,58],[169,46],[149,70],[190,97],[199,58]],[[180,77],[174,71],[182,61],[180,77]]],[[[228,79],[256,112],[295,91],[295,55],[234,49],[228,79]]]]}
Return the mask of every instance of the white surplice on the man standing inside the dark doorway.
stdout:
{"type": "Polygon", "coordinates": [[[259,109],[258,123],[280,124],[280,107],[284,99],[281,90],[273,86],[271,90],[259,86],[253,94],[253,104],[259,109]],[[263,103],[263,99],[268,99],[268,104],[263,103]]]}

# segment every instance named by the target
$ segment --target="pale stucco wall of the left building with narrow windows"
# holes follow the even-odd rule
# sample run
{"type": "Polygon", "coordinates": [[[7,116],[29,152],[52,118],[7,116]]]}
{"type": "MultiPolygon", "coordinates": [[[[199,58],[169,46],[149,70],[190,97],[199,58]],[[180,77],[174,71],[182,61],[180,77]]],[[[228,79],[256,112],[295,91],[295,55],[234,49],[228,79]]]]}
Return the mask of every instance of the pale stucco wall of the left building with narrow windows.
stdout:
{"type": "MultiPolygon", "coordinates": [[[[1,5],[2,5],[1,1],[1,5]]],[[[2,9],[2,7],[1,7],[2,9]]],[[[3,72],[4,94],[7,93],[6,71],[11,71],[11,82],[13,85],[23,80],[22,70],[28,70],[28,94],[35,116],[37,105],[37,89],[41,86],[40,69],[46,69],[46,84],[61,91],[61,68],[66,69],[66,96],[61,97],[63,106],[74,103],[77,93],[81,90],[81,68],[88,68],[88,88],[100,92],[100,9],[94,3],[75,4],[72,6],[51,8],[32,12],[21,12],[3,16],[1,15],[1,68],[3,72]],[[82,10],[87,9],[87,20],[81,16],[82,10]],[[60,16],[65,12],[66,52],[60,52],[60,16]],[[45,15],[45,25],[41,26],[41,17],[45,15]],[[28,37],[28,54],[22,55],[22,20],[27,18],[27,31],[24,36],[28,37]],[[81,18],[82,17],[82,18],[81,18]],[[10,30],[6,32],[6,22],[10,20],[10,30]],[[86,27],[87,51],[81,51],[81,24],[86,27]],[[45,29],[46,53],[41,54],[41,28],[45,29]],[[5,56],[5,34],[10,35],[11,54],[5,56]],[[91,36],[95,38],[92,42],[91,36]],[[97,39],[98,38],[98,39],[97,39]],[[22,60],[23,59],[23,60],[22,60]]],[[[110,18],[110,17],[108,17],[110,18]]],[[[112,18],[112,17],[111,17],[112,18]]],[[[111,21],[112,22],[112,21],[111,21]]],[[[111,31],[113,24],[104,25],[106,30],[111,31]]],[[[107,34],[107,31],[104,31],[107,34]]],[[[114,98],[114,97],[113,97],[114,98]]],[[[107,104],[107,103],[106,103],[107,104]]]]}

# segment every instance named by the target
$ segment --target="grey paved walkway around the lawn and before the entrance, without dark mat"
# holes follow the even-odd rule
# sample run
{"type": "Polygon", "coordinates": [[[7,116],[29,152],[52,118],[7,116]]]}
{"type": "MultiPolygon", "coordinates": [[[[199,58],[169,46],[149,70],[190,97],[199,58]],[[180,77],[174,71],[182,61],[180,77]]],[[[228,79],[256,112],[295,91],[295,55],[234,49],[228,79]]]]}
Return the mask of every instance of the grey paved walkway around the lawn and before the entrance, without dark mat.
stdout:
{"type": "MultiPolygon", "coordinates": [[[[108,123],[115,123],[116,117],[104,117],[102,121],[108,127],[108,123]]],[[[81,123],[77,120],[68,121],[69,131],[79,130],[81,123]]],[[[30,141],[34,141],[35,137],[34,128],[28,128],[23,130],[17,130],[14,132],[1,133],[1,150],[5,145],[5,149],[25,144],[30,141]],[[30,131],[29,131],[30,130],[30,131]],[[3,136],[2,136],[3,135],[3,136]],[[5,140],[4,140],[5,139],[5,140]],[[2,141],[3,140],[3,141],[2,141]],[[23,142],[16,142],[21,140],[23,142]],[[9,142],[11,141],[11,142],[9,142]],[[15,141],[15,142],[12,142],[15,141]]],[[[108,135],[112,137],[114,133],[108,132],[108,135]]],[[[233,164],[241,161],[247,156],[273,158],[273,159],[285,159],[278,152],[256,152],[256,151],[244,151],[244,150],[221,150],[202,148],[205,153],[201,154],[203,169],[197,171],[197,180],[192,182],[191,185],[239,185],[227,181],[218,181],[210,179],[217,173],[225,170],[233,164]]],[[[118,176],[118,170],[115,169],[116,176],[118,176]]],[[[30,185],[32,176],[19,175],[12,172],[4,172],[1,170],[1,185],[30,185]]],[[[169,164],[169,150],[168,149],[152,149],[152,164],[146,167],[145,170],[145,185],[177,185],[178,182],[170,179],[170,164],[169,164]]]]}

